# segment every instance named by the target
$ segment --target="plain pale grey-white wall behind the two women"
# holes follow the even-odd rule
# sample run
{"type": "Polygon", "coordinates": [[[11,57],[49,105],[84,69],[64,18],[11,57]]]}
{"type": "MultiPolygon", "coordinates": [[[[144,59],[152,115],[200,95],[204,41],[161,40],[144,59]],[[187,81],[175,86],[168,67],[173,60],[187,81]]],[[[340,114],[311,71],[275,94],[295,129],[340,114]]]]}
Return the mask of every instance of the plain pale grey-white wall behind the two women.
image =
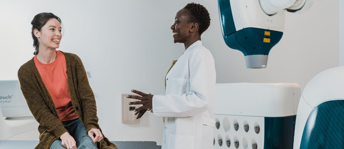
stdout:
{"type": "MultiPolygon", "coordinates": [[[[188,2],[193,1],[1,1],[0,80],[17,79],[18,68],[33,56],[33,16],[52,12],[65,28],[58,50],[77,54],[92,76],[105,136],[161,144],[161,117],[147,113],[139,124],[122,124],[120,95],[131,89],[164,93],[170,62],[184,51],[182,44],[173,43],[170,26],[188,2]]],[[[219,83],[296,82],[303,89],[315,74],[339,66],[339,0],[317,1],[306,13],[287,14],[285,32],[265,69],[247,69],[244,55],[226,46],[216,0],[194,2],[211,15],[202,41],[213,53],[219,83]]]]}

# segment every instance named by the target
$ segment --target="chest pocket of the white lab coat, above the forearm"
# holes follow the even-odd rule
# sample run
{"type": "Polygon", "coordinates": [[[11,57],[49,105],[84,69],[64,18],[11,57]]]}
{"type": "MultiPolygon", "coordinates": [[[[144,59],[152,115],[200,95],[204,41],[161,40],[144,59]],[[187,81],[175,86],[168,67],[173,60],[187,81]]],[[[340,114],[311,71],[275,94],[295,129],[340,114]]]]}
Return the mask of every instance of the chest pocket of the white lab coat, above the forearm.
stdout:
{"type": "Polygon", "coordinates": [[[190,81],[185,78],[172,78],[171,92],[172,94],[182,95],[190,89],[190,81]]]}

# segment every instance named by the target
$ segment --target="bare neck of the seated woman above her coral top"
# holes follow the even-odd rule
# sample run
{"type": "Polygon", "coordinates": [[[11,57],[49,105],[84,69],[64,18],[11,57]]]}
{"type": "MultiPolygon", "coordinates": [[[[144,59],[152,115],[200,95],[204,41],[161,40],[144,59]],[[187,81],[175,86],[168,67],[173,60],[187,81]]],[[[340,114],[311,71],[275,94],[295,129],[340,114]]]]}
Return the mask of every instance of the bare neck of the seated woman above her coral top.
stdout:
{"type": "Polygon", "coordinates": [[[56,49],[55,48],[44,48],[40,47],[37,54],[37,59],[43,64],[49,64],[56,59],[56,49]]]}

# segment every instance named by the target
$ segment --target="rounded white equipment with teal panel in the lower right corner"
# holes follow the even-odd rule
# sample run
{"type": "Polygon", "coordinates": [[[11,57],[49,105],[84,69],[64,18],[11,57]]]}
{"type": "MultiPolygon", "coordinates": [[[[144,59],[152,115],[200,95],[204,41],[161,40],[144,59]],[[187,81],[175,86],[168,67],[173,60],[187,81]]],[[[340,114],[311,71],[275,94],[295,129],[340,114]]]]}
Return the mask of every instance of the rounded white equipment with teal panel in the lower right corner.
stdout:
{"type": "Polygon", "coordinates": [[[311,79],[300,98],[294,149],[344,148],[344,66],[311,79]]]}

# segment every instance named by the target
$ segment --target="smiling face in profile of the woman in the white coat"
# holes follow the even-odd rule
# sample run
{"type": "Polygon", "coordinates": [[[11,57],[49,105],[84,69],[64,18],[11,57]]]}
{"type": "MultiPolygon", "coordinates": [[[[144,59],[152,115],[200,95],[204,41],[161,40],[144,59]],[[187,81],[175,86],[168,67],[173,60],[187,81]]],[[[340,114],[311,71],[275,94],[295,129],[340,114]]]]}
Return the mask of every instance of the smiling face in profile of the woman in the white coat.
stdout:
{"type": "Polygon", "coordinates": [[[174,43],[185,43],[191,36],[192,23],[187,21],[186,10],[181,9],[175,14],[174,24],[171,26],[174,43]]]}

